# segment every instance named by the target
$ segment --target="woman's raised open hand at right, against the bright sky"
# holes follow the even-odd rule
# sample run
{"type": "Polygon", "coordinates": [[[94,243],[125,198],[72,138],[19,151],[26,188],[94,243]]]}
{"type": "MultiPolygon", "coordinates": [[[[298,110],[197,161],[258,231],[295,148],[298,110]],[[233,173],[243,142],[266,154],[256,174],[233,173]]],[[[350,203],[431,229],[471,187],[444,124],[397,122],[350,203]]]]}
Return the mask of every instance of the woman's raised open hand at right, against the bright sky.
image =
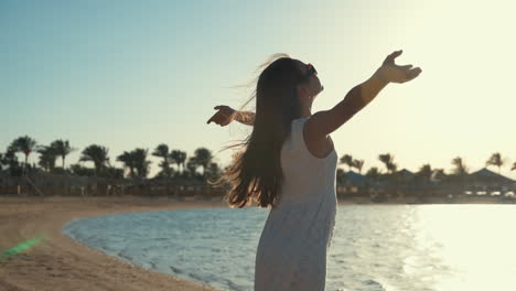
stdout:
{"type": "Polygon", "coordinates": [[[422,72],[420,67],[411,68],[412,65],[399,66],[395,64],[395,58],[402,53],[402,50],[389,54],[375,74],[386,82],[405,83],[419,76],[422,72]]]}

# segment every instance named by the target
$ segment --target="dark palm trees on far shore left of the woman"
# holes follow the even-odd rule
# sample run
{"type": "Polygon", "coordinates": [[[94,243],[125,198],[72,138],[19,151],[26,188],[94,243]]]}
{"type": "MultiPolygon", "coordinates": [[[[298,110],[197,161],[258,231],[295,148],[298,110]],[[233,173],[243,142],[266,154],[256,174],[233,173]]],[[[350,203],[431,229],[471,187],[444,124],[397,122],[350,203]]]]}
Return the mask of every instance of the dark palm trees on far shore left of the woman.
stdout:
{"type": "MultiPolygon", "coordinates": [[[[49,146],[39,144],[29,136],[23,136],[14,139],[7,148],[6,152],[0,152],[0,170],[9,169],[12,176],[24,175],[33,171],[34,165],[28,163],[31,153],[39,153],[37,165],[47,173],[56,174],[76,174],[87,176],[105,176],[114,179],[148,179],[150,174],[151,161],[149,161],[149,149],[137,148],[116,157],[116,161],[123,164],[121,169],[111,164],[109,158],[109,149],[100,144],[89,144],[80,152],[77,163],[71,164],[69,169],[65,169],[66,157],[77,151],[73,148],[68,140],[57,139],[49,146]],[[17,153],[24,154],[24,162],[18,161],[17,153]],[[62,166],[56,166],[56,161],[61,159],[62,166]],[[82,162],[93,162],[94,168],[86,168],[82,162]]],[[[222,174],[219,165],[214,162],[212,152],[206,148],[198,148],[192,157],[187,157],[186,152],[181,150],[171,150],[168,144],[160,143],[150,153],[153,157],[161,158],[158,164],[160,171],[154,177],[196,177],[212,179],[218,177],[222,174]],[[175,164],[176,170],[171,165],[175,164]],[[202,169],[202,173],[197,169],[202,169]]]]}

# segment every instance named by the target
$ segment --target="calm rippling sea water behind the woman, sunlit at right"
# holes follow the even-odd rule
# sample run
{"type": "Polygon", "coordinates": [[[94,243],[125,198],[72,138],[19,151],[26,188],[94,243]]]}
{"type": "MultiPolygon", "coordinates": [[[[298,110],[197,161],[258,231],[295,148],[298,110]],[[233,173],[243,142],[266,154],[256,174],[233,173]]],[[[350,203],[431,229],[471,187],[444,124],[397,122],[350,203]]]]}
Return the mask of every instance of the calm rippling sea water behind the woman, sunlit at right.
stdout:
{"type": "MultiPolygon", "coordinates": [[[[252,290],[269,209],[104,215],[63,231],[108,255],[221,290],[252,290]]],[[[326,290],[516,290],[516,206],[338,206],[326,290]]]]}

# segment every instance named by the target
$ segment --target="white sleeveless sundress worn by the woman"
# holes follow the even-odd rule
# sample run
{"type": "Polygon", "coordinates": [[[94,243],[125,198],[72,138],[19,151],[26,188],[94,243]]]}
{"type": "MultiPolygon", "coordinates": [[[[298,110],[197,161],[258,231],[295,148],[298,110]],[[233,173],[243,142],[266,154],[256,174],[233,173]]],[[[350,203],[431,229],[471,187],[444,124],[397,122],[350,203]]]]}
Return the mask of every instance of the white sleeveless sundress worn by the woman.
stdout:
{"type": "MultiPolygon", "coordinates": [[[[336,215],[335,149],[326,158],[309,152],[303,139],[308,118],[292,120],[281,149],[284,180],[279,203],[261,233],[255,262],[255,291],[323,291],[326,250],[336,215]]],[[[335,148],[335,147],[334,147],[335,148]]]]}

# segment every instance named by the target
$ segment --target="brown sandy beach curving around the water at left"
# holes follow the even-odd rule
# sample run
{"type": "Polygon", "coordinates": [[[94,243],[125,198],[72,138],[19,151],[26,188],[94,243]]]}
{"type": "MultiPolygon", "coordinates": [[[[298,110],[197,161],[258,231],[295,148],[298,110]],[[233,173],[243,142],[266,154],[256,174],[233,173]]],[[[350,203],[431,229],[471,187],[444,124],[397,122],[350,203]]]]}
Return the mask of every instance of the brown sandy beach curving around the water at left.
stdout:
{"type": "Polygon", "coordinates": [[[216,290],[127,263],[62,234],[67,222],[80,217],[202,207],[227,207],[227,204],[135,196],[0,196],[2,252],[37,236],[45,237],[31,248],[0,261],[0,290],[216,290]]]}

